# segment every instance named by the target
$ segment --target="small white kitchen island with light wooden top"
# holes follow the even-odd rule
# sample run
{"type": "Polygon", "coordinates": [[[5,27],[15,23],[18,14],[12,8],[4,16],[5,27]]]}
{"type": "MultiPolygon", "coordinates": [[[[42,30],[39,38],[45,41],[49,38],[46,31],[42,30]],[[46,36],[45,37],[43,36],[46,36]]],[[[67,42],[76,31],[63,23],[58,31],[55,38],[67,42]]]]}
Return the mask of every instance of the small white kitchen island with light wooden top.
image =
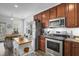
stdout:
{"type": "Polygon", "coordinates": [[[20,38],[14,38],[13,41],[14,55],[23,56],[30,54],[32,51],[31,42],[32,41],[27,38],[23,38],[23,40],[20,40],[20,38]]]}

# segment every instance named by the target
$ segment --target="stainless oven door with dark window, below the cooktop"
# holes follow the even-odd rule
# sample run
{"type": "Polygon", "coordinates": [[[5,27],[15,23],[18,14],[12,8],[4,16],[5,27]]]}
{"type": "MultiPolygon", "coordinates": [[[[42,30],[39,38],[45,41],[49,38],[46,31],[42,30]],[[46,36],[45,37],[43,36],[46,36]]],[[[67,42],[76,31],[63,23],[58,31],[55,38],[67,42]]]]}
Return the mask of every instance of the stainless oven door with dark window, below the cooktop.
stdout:
{"type": "Polygon", "coordinates": [[[63,41],[46,39],[46,53],[56,56],[63,55],[63,41]]]}

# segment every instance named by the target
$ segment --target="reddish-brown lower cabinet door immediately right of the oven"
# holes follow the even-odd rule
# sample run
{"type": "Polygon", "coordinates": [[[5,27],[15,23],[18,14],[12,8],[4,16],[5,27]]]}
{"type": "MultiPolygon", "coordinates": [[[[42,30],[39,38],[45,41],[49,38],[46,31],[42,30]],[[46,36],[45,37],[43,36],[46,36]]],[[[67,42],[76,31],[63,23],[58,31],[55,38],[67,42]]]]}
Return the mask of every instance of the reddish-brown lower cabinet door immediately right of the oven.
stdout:
{"type": "Polygon", "coordinates": [[[71,56],[71,42],[64,42],[64,56],[71,56]]]}

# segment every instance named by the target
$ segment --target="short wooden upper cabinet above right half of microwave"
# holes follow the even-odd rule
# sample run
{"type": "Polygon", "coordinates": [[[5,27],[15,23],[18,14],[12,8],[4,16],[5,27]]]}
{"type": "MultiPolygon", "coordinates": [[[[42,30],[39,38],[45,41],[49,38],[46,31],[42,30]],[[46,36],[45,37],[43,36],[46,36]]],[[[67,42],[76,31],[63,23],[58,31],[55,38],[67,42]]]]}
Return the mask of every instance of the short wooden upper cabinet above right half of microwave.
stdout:
{"type": "Polygon", "coordinates": [[[65,3],[57,6],[57,17],[65,17],[65,3]]]}

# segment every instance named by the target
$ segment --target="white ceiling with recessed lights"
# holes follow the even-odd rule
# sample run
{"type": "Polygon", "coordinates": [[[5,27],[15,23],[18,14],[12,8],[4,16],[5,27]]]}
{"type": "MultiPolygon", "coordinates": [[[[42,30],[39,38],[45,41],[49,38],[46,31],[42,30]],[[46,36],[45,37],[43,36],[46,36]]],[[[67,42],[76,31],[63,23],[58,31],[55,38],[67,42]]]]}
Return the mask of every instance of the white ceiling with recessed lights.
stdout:
{"type": "Polygon", "coordinates": [[[0,15],[26,18],[57,4],[58,3],[0,3],[0,15]],[[15,4],[19,7],[15,8],[15,4]]]}

